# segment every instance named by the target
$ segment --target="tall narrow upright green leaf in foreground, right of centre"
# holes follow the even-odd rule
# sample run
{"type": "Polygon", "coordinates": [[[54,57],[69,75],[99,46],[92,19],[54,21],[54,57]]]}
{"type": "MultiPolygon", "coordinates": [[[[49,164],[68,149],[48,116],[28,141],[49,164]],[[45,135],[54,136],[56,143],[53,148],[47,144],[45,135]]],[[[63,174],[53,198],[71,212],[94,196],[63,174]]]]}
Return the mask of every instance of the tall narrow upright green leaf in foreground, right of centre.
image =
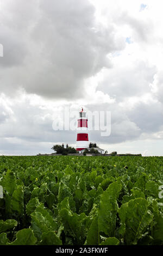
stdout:
{"type": "Polygon", "coordinates": [[[121,184],[113,182],[101,196],[98,210],[99,231],[105,235],[114,236],[116,226],[116,214],[118,209],[117,198],[121,191],[121,184]]]}

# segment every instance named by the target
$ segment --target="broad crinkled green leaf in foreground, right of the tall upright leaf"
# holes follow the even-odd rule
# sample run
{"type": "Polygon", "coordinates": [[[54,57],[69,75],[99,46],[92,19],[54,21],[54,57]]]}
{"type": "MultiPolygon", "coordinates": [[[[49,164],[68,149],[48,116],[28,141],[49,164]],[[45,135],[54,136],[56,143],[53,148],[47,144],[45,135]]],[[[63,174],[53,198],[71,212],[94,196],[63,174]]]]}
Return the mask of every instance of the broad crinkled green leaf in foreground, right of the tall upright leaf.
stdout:
{"type": "Polygon", "coordinates": [[[122,225],[126,226],[124,242],[136,245],[152,221],[152,213],[148,210],[148,202],[144,198],[136,198],[122,204],[118,210],[122,225]]]}

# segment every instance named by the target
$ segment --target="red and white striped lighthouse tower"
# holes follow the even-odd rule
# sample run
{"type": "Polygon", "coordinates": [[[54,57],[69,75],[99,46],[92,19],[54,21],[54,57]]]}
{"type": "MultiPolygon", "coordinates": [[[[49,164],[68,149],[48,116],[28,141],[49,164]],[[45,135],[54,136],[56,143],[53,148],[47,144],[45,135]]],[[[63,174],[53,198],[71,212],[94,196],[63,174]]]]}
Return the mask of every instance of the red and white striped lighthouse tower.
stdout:
{"type": "Polygon", "coordinates": [[[77,150],[89,148],[89,137],[87,129],[86,112],[79,112],[78,127],[77,127],[77,150]]]}

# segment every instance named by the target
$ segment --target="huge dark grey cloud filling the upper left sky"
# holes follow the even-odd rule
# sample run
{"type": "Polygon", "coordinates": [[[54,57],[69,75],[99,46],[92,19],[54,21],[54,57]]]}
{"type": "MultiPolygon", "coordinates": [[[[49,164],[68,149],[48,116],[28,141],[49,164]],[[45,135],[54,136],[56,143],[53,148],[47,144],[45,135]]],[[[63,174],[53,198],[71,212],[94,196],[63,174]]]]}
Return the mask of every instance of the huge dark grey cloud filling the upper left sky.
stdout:
{"type": "Polygon", "coordinates": [[[21,87],[45,97],[82,97],[85,79],[109,67],[107,54],[124,47],[114,26],[96,22],[95,8],[87,0],[29,1],[26,8],[20,0],[11,7],[7,3],[8,19],[1,24],[6,38],[0,71],[4,92],[13,94],[21,87]]]}

